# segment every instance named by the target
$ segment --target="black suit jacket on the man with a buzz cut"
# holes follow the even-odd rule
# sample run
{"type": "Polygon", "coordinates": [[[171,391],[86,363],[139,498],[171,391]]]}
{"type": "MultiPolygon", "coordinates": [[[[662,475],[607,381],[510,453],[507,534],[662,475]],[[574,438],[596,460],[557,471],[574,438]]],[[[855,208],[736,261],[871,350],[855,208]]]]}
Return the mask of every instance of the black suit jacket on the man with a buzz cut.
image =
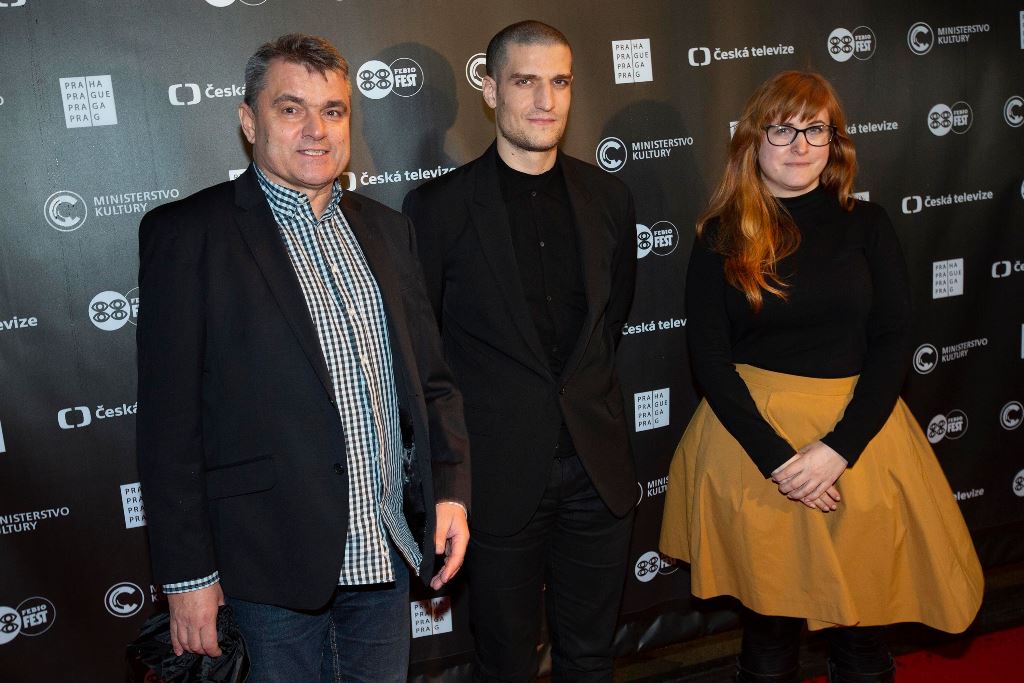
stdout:
{"type": "Polygon", "coordinates": [[[579,457],[616,515],[637,484],[614,370],[633,299],[636,218],[626,185],[559,153],[572,206],[587,314],[553,376],[516,269],[497,147],[409,194],[444,355],[466,404],[473,446],[473,524],[522,528],[544,494],[563,417],[579,457]]]}

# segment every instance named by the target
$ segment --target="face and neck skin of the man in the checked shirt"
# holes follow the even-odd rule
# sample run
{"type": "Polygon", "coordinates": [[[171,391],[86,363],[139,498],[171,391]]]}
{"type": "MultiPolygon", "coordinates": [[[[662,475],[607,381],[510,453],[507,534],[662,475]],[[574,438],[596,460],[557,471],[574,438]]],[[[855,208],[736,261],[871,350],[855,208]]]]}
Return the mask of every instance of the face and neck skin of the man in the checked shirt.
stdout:
{"type": "Polygon", "coordinates": [[[322,75],[274,59],[256,111],[243,102],[239,120],[260,170],[308,197],[318,217],[331,200],[335,178],[348,165],[350,112],[351,89],[339,72],[322,75]]]}

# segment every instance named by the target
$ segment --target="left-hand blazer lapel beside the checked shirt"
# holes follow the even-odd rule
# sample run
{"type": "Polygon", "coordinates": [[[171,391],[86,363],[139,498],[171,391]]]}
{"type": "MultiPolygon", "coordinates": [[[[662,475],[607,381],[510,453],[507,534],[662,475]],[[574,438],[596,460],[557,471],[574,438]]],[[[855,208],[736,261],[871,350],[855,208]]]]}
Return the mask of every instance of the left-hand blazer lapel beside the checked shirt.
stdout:
{"type": "Polygon", "coordinates": [[[249,246],[282,315],[295,333],[299,346],[309,358],[324,389],[334,398],[334,382],[324,359],[316,328],[309,316],[302,288],[252,165],[234,181],[234,204],[236,220],[242,238],[249,246]]]}

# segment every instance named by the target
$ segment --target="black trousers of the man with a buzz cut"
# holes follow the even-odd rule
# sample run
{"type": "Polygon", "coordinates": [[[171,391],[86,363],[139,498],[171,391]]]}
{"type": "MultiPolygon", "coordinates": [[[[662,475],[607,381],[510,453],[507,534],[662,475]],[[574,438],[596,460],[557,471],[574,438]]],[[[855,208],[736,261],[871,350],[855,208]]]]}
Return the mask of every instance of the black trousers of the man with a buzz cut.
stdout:
{"type": "Polygon", "coordinates": [[[466,556],[474,680],[537,677],[542,599],[556,681],[611,681],[632,511],[605,507],[578,457],[556,459],[537,512],[507,537],[472,529],[466,556]]]}

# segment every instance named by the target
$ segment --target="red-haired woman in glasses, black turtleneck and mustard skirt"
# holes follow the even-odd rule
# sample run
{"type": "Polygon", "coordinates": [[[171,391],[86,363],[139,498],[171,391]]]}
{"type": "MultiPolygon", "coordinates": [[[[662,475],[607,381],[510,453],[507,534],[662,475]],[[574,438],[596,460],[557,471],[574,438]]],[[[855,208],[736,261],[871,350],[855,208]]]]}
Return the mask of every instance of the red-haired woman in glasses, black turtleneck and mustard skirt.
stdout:
{"type": "Polygon", "coordinates": [[[895,231],[854,199],[846,121],[816,74],[746,103],[686,278],[700,402],[672,462],[662,551],[744,606],[739,681],[799,680],[803,625],[834,682],[891,681],[879,629],[961,632],[971,537],[899,390],[910,294],[895,231]]]}

